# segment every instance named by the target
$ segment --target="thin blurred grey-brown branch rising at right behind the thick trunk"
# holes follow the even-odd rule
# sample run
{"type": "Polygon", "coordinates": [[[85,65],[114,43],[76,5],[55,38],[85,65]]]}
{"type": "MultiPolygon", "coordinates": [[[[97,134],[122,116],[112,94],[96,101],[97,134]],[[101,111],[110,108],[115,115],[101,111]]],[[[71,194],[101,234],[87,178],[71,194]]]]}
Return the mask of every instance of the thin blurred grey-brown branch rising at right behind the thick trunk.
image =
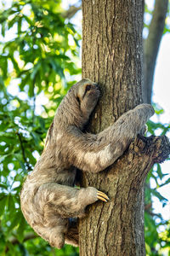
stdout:
{"type": "Polygon", "coordinates": [[[151,102],[153,75],[156,67],[156,57],[161,42],[168,0],[156,0],[149,35],[144,42],[144,102],[151,102]]]}

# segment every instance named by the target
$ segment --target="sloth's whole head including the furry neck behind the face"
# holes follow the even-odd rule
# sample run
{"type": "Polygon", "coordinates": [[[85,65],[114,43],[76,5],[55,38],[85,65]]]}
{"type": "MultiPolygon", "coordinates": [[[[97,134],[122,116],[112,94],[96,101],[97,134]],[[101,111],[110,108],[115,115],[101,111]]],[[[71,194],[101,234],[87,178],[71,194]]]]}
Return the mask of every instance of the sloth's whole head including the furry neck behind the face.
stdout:
{"type": "Polygon", "coordinates": [[[99,86],[89,79],[74,84],[60,103],[56,118],[63,125],[77,125],[80,129],[87,123],[99,100],[99,86]]]}

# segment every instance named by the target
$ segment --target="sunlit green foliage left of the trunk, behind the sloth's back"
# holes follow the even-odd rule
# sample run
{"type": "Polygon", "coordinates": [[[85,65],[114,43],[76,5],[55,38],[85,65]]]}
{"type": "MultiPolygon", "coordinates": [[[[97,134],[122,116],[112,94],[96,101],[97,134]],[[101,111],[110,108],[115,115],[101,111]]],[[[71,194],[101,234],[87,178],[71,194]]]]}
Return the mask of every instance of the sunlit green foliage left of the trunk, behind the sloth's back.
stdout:
{"type": "Polygon", "coordinates": [[[73,247],[58,251],[35,238],[20,212],[24,177],[42,152],[55,109],[74,83],[66,84],[65,76],[69,80],[80,73],[73,62],[80,36],[61,10],[60,1],[26,0],[14,1],[0,14],[1,255],[77,255],[73,247]],[[38,99],[47,102],[40,109],[38,99]]]}

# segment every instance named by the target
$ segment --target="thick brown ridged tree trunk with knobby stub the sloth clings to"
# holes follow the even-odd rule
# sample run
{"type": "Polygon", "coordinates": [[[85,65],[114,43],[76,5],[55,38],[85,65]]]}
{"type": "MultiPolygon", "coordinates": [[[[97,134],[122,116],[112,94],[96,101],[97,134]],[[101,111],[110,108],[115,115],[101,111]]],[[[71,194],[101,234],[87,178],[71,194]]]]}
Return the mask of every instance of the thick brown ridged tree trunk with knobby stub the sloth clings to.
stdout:
{"type": "MultiPolygon", "coordinates": [[[[98,82],[101,97],[88,131],[99,132],[141,103],[143,1],[82,0],[82,78],[98,82]]],[[[165,137],[136,139],[99,174],[82,174],[82,186],[109,195],[80,220],[80,255],[145,255],[144,180],[165,137]]],[[[169,145],[167,143],[167,152],[169,145]]],[[[162,153],[162,152],[161,152],[162,153]]]]}

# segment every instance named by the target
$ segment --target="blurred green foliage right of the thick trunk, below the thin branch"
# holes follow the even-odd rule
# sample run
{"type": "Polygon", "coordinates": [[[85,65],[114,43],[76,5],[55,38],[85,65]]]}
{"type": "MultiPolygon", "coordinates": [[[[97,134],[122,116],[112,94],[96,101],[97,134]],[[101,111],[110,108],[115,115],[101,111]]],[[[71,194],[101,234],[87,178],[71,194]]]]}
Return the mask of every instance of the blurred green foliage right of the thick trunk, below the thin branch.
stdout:
{"type": "MultiPolygon", "coordinates": [[[[157,122],[149,121],[148,122],[148,131],[149,134],[153,135],[167,135],[170,125],[162,125],[159,121],[160,115],[163,113],[163,110],[155,105],[155,111],[157,115],[157,122]]],[[[147,255],[160,255],[160,247],[169,247],[169,242],[165,242],[162,236],[159,235],[159,227],[164,226],[164,229],[167,227],[167,221],[165,221],[161,214],[154,212],[152,207],[153,196],[155,196],[162,204],[162,207],[167,206],[167,198],[162,196],[159,193],[159,188],[163,187],[170,183],[170,177],[168,173],[161,172],[161,165],[156,164],[150,170],[149,175],[146,179],[145,187],[145,213],[144,213],[144,233],[145,233],[145,243],[146,243],[146,253],[147,255]],[[150,186],[150,183],[155,183],[155,186],[150,186]]],[[[166,232],[166,231],[165,231],[166,232]]],[[[169,247],[170,248],[170,247],[169,247]]]]}

